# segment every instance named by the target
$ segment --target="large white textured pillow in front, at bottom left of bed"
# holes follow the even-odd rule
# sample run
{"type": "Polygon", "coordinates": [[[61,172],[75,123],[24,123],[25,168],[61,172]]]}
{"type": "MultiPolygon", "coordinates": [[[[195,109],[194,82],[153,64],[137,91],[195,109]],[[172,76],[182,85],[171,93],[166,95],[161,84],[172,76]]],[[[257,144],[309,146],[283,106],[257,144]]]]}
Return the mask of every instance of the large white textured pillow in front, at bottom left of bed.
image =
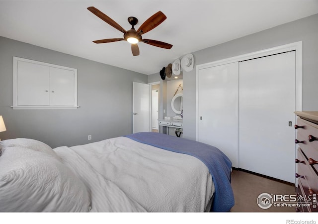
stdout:
{"type": "Polygon", "coordinates": [[[52,156],[19,146],[0,157],[0,212],[88,212],[84,184],[52,156]]]}

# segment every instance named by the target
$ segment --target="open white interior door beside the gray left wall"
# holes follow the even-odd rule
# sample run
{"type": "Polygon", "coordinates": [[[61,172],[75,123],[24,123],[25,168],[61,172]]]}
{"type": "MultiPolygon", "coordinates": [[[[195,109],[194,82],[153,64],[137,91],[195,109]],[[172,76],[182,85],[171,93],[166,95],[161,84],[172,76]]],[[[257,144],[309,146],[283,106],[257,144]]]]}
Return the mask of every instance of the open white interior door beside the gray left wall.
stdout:
{"type": "Polygon", "coordinates": [[[149,131],[150,86],[133,82],[133,133],[149,131]]]}

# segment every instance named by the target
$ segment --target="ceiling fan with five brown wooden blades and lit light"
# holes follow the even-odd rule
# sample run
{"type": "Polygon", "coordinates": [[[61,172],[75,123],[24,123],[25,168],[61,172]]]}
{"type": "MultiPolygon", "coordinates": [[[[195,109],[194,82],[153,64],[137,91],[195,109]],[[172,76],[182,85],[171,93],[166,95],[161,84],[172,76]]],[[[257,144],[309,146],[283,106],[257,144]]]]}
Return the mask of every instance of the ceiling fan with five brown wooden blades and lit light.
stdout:
{"type": "Polygon", "coordinates": [[[156,47],[161,47],[165,49],[170,49],[172,47],[171,44],[164,43],[158,40],[150,40],[150,39],[143,39],[142,34],[149,32],[150,30],[157,27],[161,22],[163,22],[167,17],[161,12],[157,12],[148,18],[137,30],[134,26],[138,23],[138,19],[136,17],[130,16],[128,17],[128,22],[132,25],[130,30],[125,30],[121,27],[117,22],[111,19],[109,16],[105,15],[103,12],[98,10],[97,8],[91,6],[87,8],[89,11],[94,13],[96,16],[107,22],[109,25],[113,26],[114,28],[118,29],[119,31],[124,33],[124,38],[111,38],[111,39],[102,39],[102,40],[95,40],[94,43],[110,43],[115,41],[127,40],[131,43],[131,51],[134,56],[139,55],[139,47],[137,45],[138,42],[144,42],[156,47]]]}

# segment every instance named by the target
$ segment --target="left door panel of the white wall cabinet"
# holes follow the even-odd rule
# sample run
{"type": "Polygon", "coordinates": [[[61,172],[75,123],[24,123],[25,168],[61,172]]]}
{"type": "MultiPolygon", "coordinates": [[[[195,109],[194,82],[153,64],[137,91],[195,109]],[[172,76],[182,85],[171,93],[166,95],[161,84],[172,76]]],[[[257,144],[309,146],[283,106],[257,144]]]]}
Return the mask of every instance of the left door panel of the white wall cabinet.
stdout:
{"type": "Polygon", "coordinates": [[[18,106],[49,105],[49,67],[18,62],[18,106]]]}

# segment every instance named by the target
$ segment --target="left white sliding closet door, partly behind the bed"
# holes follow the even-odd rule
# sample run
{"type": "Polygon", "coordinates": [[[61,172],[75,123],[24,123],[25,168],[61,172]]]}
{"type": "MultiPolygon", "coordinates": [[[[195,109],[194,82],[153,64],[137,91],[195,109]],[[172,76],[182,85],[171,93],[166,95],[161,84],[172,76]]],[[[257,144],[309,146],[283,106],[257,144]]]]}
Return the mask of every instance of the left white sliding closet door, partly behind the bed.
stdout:
{"type": "Polygon", "coordinates": [[[238,62],[199,70],[199,141],[238,167],[238,62]]]}

